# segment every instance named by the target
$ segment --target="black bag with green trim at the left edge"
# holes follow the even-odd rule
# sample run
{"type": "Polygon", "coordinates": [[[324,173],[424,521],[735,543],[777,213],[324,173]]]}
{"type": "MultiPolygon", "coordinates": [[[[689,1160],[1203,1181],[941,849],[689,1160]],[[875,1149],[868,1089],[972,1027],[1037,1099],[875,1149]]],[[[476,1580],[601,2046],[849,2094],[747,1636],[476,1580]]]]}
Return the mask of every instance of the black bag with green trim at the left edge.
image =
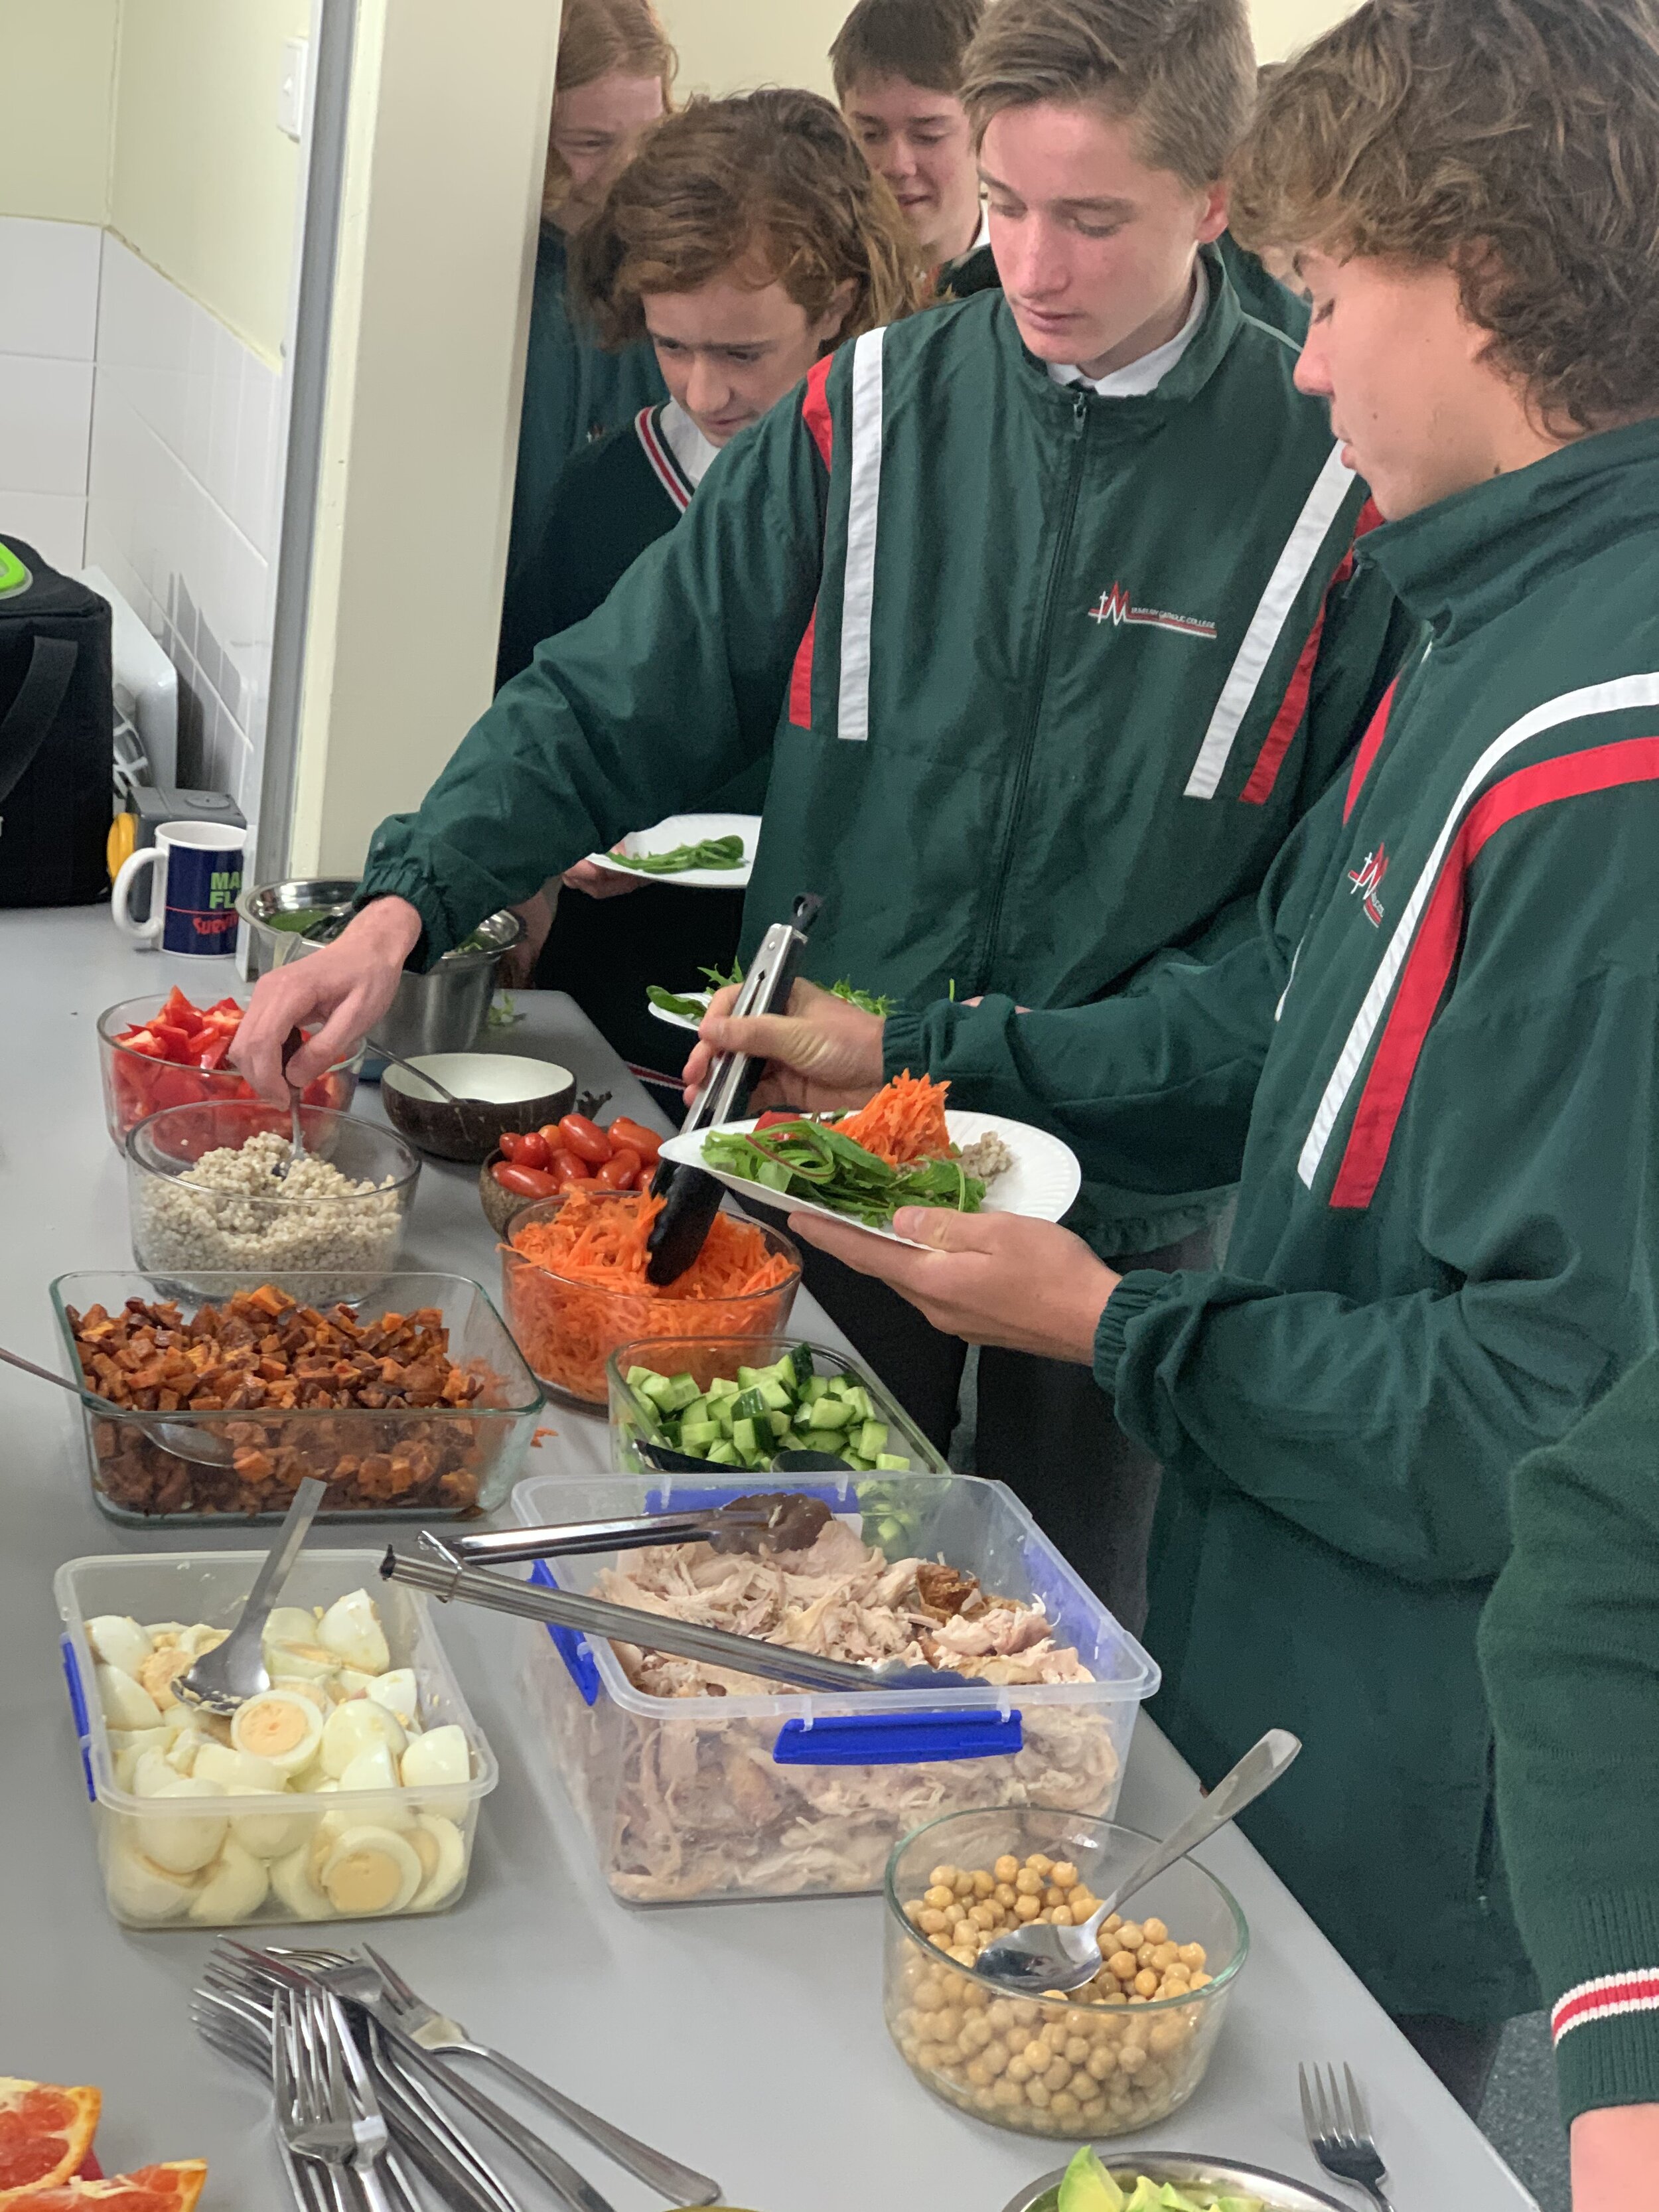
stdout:
{"type": "Polygon", "coordinates": [[[86,907],[108,894],[113,617],[22,538],[0,546],[29,571],[0,555],[0,907],[86,907]]]}

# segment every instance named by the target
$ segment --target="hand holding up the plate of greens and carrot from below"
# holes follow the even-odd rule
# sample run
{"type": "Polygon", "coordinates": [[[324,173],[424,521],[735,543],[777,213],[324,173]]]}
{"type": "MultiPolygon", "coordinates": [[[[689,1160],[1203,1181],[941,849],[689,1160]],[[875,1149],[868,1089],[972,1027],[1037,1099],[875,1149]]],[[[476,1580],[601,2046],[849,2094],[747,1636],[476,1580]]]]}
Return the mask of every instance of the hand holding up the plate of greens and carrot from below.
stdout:
{"type": "Polygon", "coordinates": [[[790,1234],[889,1283],[936,1329],[969,1345],[1035,1352],[1093,1367],[1095,1329],[1121,1276],[1082,1237],[1026,1214],[956,1214],[905,1206],[894,1230],[911,1245],[790,1214],[790,1234]]]}

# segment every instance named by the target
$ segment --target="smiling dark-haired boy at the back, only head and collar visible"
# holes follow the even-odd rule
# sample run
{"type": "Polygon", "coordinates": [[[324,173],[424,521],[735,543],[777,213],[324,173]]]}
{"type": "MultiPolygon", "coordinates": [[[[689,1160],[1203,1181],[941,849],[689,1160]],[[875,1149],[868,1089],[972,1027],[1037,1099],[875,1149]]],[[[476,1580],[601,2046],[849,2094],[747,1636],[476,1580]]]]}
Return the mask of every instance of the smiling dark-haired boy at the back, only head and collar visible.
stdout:
{"type": "Polygon", "coordinates": [[[940,296],[998,281],[962,69],[987,0],[858,0],[830,49],[847,128],[933,272],[940,296]]]}

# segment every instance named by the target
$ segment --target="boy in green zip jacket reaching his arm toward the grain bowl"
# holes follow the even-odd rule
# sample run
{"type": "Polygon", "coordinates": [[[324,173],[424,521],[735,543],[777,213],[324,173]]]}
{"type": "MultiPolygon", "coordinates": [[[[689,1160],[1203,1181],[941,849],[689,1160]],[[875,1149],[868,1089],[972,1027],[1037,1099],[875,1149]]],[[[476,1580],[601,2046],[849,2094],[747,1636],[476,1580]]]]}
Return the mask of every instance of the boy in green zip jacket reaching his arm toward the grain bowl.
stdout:
{"type": "MultiPolygon", "coordinates": [[[[1294,347],[1214,254],[1254,102],[1245,0],[998,0],[973,71],[1006,290],[867,332],[739,431],[376,832],[327,958],[261,984],[239,1033],[261,1084],[283,1009],[374,1020],[403,960],[757,765],[743,949],[816,891],[823,982],[1075,1006],[1248,927],[1416,626],[1356,560],[1365,484],[1294,347]]],[[[1095,1183],[1091,1234],[1208,1256],[1230,1181],[1095,1183]]],[[[949,1436],[962,1347],[889,1298],[898,1336],[845,1276],[812,1287],[949,1436]]],[[[1035,1484],[1040,1425],[1060,1480],[1029,1495],[1133,1615],[1155,1462],[1108,1413],[1055,1363],[982,1363],[980,1469],[1035,1484]],[[1077,1491],[1084,1458],[1110,1491],[1077,1491]]]]}

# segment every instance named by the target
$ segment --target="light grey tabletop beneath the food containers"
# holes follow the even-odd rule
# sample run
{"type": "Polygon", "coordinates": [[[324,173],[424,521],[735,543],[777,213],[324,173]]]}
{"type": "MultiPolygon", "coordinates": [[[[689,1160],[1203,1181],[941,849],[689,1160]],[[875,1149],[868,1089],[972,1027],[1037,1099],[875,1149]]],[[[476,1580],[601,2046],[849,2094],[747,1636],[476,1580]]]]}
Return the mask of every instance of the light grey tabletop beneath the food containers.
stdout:
{"type": "MultiPolygon", "coordinates": [[[[175,978],[197,998],[234,989],[230,962],[139,953],[102,909],[0,916],[0,1343],[46,1365],[60,1358],[46,1283],[131,1259],[93,1024],[115,1000],[148,989],[159,1000],[175,978]]],[[[659,1119],[566,998],[522,995],[520,1006],[526,1020],[507,1048],[562,1060],[580,1082],[608,1086],[619,1108],[659,1119]]],[[[369,1086],[361,1110],[380,1110],[369,1086]]],[[[405,1265],[473,1274],[493,1294],[473,1175],[427,1164],[405,1265]]],[[[805,1296],[794,1323],[838,1340],[805,1296]]],[[[887,1380],[902,1398],[902,1376],[887,1380]]],[[[606,1464],[602,1422],[564,1411],[549,1420],[557,1438],[531,1469],[606,1464]]],[[[188,2024],[210,1938],[133,1936],[106,1916],[58,1668],[60,1562],[181,1540],[115,1528],[97,1513],[75,1409],[22,1376],[0,1378],[0,2075],[100,2084],[108,2172],[201,2154],[204,2212],[288,2212],[259,2086],[199,2046],[188,2024]]],[[[338,1542],[365,1535],[343,1528],[338,1542]]],[[[911,2079],[880,2020],[878,1900],[648,1913],[615,1905],[542,1745],[526,1736],[515,1626],[460,1606],[442,1619],[502,1781],[484,1801],[460,1907],[383,1931],[422,1993],[573,2097],[719,2174],[730,2201],[757,2212],[1000,2212],[1022,2183],[1064,2163],[1064,2150],[969,2121],[911,2079]]],[[[1192,1787],[1141,1721],[1119,1816],[1164,1832],[1192,1787]]],[[[1208,2079],[1141,2141],[1318,2181],[1296,2062],[1347,2059],[1371,2099],[1396,2212],[1531,2205],[1256,1851],[1232,1834],[1199,1856],[1239,1896],[1252,1958],[1208,2079]]],[[[562,2148],[617,2212],[655,2203],[597,2152],[562,2148]]],[[[524,2201],[546,2199],[526,2181],[524,2201]]]]}

